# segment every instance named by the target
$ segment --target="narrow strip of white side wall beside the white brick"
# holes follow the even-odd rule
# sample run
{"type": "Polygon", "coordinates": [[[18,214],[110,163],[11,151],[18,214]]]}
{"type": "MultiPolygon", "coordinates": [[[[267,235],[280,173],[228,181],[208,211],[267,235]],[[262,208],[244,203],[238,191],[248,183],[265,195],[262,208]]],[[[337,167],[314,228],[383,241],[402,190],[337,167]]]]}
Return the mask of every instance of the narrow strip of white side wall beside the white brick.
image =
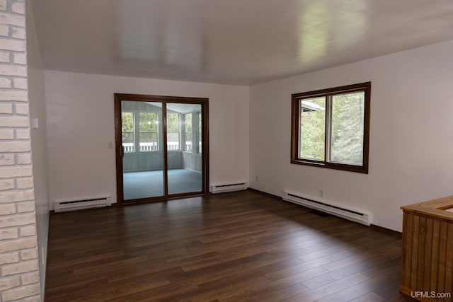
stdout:
{"type": "MultiPolygon", "coordinates": [[[[35,21],[30,1],[26,1],[28,98],[30,119],[38,117],[39,128],[30,129],[33,185],[35,189],[35,211],[38,235],[38,262],[40,268],[41,293],[44,293],[47,257],[47,235],[49,230],[49,192],[47,181],[47,143],[45,118],[44,71],[36,35],[35,21]]],[[[41,299],[43,295],[41,295],[41,299]]]]}

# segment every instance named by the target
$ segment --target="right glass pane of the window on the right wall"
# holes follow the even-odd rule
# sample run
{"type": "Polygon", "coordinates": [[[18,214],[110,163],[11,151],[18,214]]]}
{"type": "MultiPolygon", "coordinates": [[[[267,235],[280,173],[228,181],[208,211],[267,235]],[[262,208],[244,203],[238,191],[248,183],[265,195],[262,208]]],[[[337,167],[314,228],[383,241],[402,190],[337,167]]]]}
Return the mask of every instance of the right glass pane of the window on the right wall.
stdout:
{"type": "Polygon", "coordinates": [[[331,161],[363,164],[365,92],[332,97],[331,161]]]}

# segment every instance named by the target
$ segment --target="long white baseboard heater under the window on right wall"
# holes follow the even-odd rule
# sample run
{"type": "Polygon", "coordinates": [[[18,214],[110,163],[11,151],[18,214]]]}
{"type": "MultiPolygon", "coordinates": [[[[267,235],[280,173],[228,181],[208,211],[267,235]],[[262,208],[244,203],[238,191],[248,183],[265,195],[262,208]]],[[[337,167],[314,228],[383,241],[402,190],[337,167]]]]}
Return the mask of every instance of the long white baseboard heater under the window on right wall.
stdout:
{"type": "Polygon", "coordinates": [[[294,194],[294,193],[289,193],[289,192],[283,192],[282,194],[282,199],[287,201],[287,202],[292,202],[294,204],[300,204],[304,207],[308,207],[311,209],[316,209],[319,211],[326,212],[328,214],[332,214],[335,216],[342,217],[344,219],[348,219],[350,221],[355,221],[358,223],[365,224],[366,226],[369,226],[370,221],[370,216],[367,213],[364,213],[362,211],[357,211],[354,209],[348,209],[345,207],[339,207],[335,204],[328,204],[326,202],[319,202],[314,199],[309,199],[306,197],[302,197],[299,194],[294,194]]]}

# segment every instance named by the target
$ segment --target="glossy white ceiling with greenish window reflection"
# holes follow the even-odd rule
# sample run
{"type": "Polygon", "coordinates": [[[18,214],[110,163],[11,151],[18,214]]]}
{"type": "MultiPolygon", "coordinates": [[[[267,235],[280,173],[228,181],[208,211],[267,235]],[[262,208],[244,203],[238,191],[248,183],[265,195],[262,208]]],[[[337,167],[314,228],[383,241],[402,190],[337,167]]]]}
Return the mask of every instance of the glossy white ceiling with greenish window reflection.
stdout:
{"type": "Polygon", "coordinates": [[[453,39],[453,0],[33,0],[45,69],[252,85],[453,39]]]}

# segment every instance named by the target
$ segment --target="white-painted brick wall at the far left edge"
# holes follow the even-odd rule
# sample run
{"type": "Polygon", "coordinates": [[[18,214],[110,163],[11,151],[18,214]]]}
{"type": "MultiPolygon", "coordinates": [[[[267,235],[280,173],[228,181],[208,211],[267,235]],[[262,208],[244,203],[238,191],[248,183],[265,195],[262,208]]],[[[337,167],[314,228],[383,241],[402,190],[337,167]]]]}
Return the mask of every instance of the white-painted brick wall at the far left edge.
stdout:
{"type": "Polygon", "coordinates": [[[40,301],[25,1],[0,0],[0,302],[40,301]]]}

